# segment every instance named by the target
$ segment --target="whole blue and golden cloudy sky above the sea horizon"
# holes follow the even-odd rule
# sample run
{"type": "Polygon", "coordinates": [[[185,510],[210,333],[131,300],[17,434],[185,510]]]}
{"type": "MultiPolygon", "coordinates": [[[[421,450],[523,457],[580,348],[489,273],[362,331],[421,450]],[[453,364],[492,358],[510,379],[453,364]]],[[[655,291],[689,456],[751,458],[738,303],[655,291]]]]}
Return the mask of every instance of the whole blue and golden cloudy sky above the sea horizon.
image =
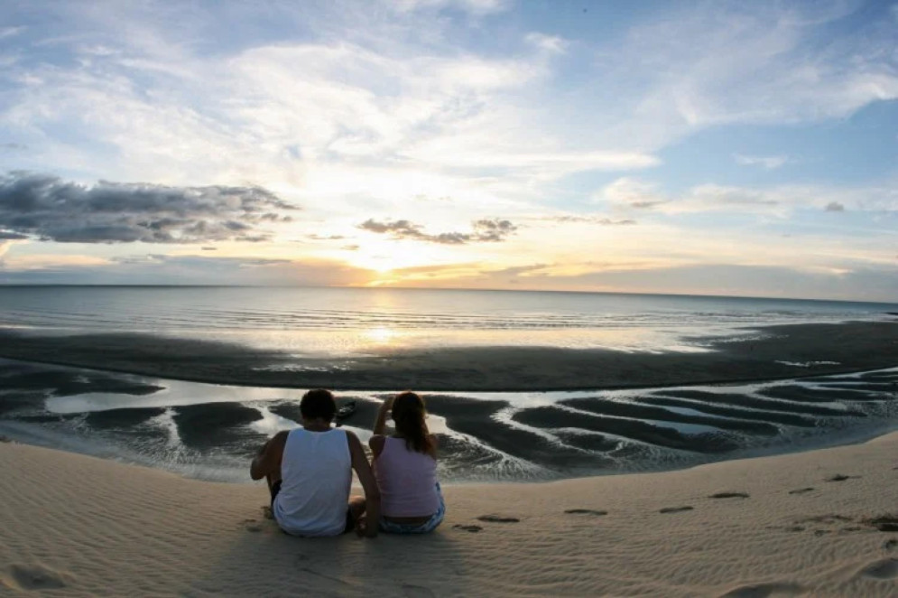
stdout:
{"type": "Polygon", "coordinates": [[[0,284],[898,301],[898,4],[0,13],[0,284]]]}

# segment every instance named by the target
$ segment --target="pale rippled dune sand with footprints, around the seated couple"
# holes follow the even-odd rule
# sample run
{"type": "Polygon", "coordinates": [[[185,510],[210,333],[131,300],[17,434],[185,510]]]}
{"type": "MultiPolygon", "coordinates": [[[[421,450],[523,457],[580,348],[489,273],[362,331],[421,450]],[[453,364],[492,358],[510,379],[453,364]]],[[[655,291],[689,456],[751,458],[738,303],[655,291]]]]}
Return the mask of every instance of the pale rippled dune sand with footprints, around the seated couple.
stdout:
{"type": "Polygon", "coordinates": [[[898,534],[862,519],[898,514],[896,449],[890,434],[681,472],[454,486],[436,533],[368,540],[280,533],[262,485],[0,444],[0,594],[895,596],[898,534]],[[825,481],[838,473],[860,477],[825,481]],[[708,498],[721,491],[750,496],[708,498]],[[578,508],[607,514],[564,512],[578,508]]]}

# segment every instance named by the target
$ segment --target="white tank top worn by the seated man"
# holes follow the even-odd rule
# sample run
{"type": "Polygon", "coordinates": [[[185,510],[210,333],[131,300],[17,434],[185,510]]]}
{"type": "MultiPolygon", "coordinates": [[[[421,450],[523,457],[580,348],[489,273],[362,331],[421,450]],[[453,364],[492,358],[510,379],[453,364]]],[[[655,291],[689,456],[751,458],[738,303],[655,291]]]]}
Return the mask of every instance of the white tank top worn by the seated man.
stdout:
{"type": "Polygon", "coordinates": [[[343,533],[352,485],[346,432],[291,430],[283,447],[281,479],[272,511],[285,532],[297,536],[343,533]]]}

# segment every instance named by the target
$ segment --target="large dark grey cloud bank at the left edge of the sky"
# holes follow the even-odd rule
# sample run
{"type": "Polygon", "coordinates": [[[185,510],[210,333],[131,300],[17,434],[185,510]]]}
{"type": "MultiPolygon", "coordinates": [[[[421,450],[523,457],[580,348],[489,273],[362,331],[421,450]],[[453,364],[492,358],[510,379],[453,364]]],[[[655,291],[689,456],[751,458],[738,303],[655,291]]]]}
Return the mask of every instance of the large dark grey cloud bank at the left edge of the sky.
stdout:
{"type": "Polygon", "coordinates": [[[257,229],[296,210],[261,187],[166,187],[97,182],[50,174],[0,176],[0,229],[60,243],[261,241],[257,229]]]}

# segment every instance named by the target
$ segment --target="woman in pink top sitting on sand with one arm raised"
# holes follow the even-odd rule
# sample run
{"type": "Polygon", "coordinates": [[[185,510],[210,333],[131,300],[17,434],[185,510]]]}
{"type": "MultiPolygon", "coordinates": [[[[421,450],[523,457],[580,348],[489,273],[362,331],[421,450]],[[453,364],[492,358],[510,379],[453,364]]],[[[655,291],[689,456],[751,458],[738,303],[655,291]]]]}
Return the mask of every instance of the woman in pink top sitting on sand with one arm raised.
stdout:
{"type": "Polygon", "coordinates": [[[388,398],[377,412],[368,445],[375,455],[382,531],[424,534],[439,526],[446,513],[437,481],[437,441],[427,429],[425,413],[423,399],[413,392],[388,398]],[[395,433],[384,436],[391,408],[395,433]]]}

